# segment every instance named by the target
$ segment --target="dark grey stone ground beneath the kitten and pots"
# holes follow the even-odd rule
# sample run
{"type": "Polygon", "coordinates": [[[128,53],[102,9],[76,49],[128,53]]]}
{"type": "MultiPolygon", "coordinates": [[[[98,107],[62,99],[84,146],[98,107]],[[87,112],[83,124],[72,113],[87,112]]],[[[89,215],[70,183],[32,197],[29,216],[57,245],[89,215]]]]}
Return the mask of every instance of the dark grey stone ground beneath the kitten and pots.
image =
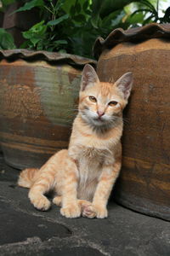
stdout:
{"type": "Polygon", "coordinates": [[[19,171],[0,155],[0,255],[169,256],[170,223],[109,203],[109,218],[64,218],[59,207],[39,212],[19,171]]]}

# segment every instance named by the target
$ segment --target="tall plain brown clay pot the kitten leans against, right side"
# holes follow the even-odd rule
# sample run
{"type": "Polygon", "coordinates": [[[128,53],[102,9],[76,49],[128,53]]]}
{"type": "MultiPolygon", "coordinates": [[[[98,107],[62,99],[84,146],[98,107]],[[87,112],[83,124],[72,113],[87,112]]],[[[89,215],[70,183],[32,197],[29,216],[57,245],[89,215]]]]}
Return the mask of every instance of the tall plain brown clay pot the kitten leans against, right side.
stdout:
{"type": "Polygon", "coordinates": [[[94,44],[99,79],[133,72],[116,201],[170,220],[170,25],[116,29],[94,44]]]}

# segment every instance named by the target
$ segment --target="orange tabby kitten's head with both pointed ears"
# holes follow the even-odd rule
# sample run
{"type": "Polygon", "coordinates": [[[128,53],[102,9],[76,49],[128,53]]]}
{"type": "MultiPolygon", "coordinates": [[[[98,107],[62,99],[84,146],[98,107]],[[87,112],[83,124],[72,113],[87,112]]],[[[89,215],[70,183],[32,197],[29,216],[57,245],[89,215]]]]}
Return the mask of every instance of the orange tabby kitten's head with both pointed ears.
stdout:
{"type": "Polygon", "coordinates": [[[133,84],[131,72],[125,73],[116,83],[100,82],[94,67],[86,65],[82,71],[79,93],[79,113],[94,128],[111,128],[122,120],[133,84]]]}

